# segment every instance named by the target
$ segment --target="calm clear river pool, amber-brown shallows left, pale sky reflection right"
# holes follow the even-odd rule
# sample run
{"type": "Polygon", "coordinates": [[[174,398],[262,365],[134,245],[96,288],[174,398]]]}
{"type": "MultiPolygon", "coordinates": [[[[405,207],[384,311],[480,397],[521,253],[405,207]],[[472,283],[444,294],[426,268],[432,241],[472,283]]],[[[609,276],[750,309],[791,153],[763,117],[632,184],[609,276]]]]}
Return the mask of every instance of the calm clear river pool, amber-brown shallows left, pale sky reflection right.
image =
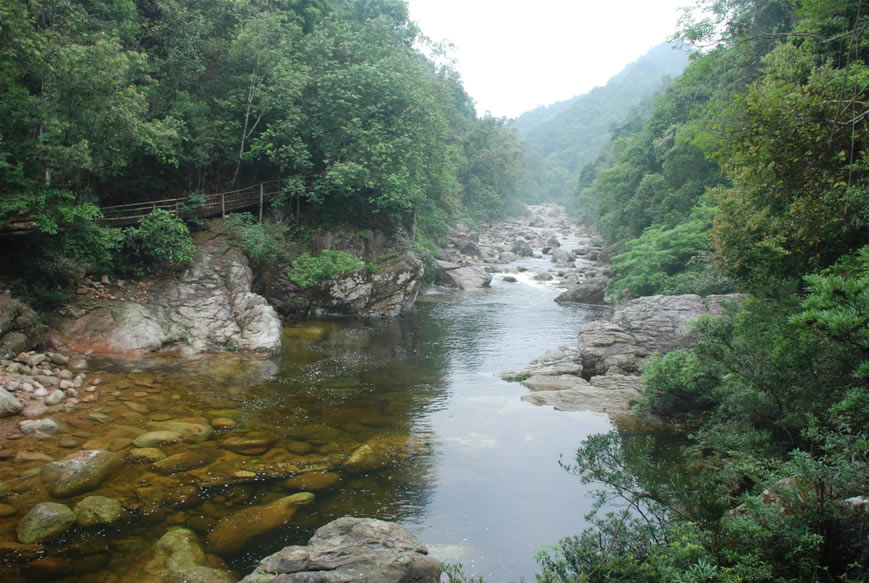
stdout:
{"type": "MultiPolygon", "coordinates": [[[[520,400],[525,387],[499,378],[549,349],[573,345],[580,325],[602,314],[553,301],[558,288],[530,277],[551,269],[548,258],[516,265],[530,270],[511,273],[516,282],[495,274],[481,292],[430,290],[395,321],[288,324],[282,353],[268,360],[232,353],[93,359],[90,376],[100,377],[99,388],[113,398],[76,413],[89,421],[78,423],[74,439],[99,446],[125,439],[125,427],[195,417],[231,419],[234,427],[164,448],[198,451],[210,462],[203,467],[158,475],[124,464],[89,492],[120,499],[135,518],[102,531],[75,528],[53,543],[50,552],[78,557],[80,565],[61,580],[137,580],[131,573],[147,564],[154,541],[172,526],[192,529],[206,544],[221,519],[306,490],[315,494],[312,504],[242,551],[225,553],[225,566],[241,578],[260,558],[353,515],[396,521],[431,554],[461,562],[466,574],[489,583],[533,581],[535,554],[581,531],[591,505],[586,487],[559,458],[571,461],[583,438],[608,431],[612,421],[536,407],[520,400]],[[228,451],[222,447],[228,436],[253,441],[246,451],[238,445],[228,451]],[[255,447],[260,442],[262,451],[255,447]],[[376,459],[339,461],[363,443],[375,444],[376,459]],[[310,479],[288,480],[294,470],[308,471],[302,475],[310,479]]],[[[49,443],[38,447],[64,455],[49,443]]],[[[24,483],[27,467],[17,468],[24,483]]],[[[38,501],[29,496],[45,496],[18,491],[22,508],[38,501]]],[[[14,523],[2,524],[9,530],[14,523]]],[[[47,580],[45,570],[0,569],[4,581],[47,580]]]]}

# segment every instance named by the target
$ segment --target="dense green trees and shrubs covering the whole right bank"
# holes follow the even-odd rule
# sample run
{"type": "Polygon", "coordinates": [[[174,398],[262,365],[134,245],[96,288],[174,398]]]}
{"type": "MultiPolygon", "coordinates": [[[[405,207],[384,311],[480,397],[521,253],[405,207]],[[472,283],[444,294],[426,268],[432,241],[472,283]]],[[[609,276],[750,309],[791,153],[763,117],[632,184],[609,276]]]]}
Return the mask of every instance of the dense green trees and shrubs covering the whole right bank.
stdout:
{"type": "Polygon", "coordinates": [[[616,432],[567,469],[592,526],[540,581],[869,576],[869,6],[703,0],[690,66],[586,166],[571,205],[610,245],[614,301],[739,291],[652,360],[640,408],[689,433],[616,432]]]}

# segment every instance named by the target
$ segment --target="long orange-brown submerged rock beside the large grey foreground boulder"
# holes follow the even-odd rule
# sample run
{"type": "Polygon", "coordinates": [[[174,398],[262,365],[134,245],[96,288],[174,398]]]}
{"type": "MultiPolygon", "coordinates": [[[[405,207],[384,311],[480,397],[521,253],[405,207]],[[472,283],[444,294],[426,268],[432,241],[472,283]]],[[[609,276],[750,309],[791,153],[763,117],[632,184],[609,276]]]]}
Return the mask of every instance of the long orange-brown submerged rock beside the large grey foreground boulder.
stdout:
{"type": "Polygon", "coordinates": [[[240,510],[217,523],[208,534],[208,548],[219,555],[237,553],[254,537],[289,522],[300,506],[313,501],[313,494],[301,492],[271,504],[240,510]]]}

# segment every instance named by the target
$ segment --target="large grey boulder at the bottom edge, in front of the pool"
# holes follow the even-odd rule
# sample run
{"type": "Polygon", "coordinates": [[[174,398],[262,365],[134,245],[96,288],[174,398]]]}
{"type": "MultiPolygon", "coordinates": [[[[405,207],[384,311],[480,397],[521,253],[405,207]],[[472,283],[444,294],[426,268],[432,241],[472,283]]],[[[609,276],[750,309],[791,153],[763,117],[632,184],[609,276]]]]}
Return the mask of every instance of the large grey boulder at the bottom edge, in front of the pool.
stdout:
{"type": "Polygon", "coordinates": [[[242,583],[437,583],[440,561],[396,524],[344,517],[318,529],[307,546],[260,561],[242,583]]]}

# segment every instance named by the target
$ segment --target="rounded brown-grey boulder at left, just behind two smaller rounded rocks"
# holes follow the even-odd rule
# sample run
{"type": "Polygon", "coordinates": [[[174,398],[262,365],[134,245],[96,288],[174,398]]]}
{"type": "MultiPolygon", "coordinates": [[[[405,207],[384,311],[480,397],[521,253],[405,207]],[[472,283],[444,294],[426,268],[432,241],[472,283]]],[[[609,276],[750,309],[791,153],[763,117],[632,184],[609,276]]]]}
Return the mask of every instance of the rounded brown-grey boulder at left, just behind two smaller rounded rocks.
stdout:
{"type": "Polygon", "coordinates": [[[39,476],[52,496],[75,496],[99,486],[121,464],[116,453],[85,450],[42,466],[39,476]]]}

